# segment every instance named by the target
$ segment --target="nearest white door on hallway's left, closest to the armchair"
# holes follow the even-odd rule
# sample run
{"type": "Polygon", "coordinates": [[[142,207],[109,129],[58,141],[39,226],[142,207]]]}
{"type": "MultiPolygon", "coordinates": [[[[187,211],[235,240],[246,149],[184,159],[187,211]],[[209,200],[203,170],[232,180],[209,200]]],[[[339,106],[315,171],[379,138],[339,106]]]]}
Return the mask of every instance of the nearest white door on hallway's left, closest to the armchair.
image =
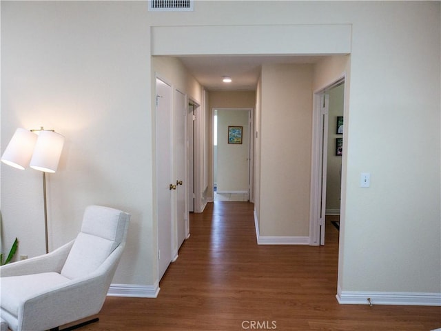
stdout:
{"type": "MultiPolygon", "coordinates": [[[[158,279],[172,261],[172,87],[156,78],[158,279]]],[[[176,182],[174,183],[176,185],[176,182]]]]}

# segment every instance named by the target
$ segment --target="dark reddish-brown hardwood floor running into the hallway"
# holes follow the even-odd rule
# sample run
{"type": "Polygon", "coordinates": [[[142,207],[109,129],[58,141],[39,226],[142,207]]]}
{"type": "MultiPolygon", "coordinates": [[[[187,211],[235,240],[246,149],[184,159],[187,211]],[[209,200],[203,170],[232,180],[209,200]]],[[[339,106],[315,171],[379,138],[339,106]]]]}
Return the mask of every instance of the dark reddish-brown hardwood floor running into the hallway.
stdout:
{"type": "Polygon", "coordinates": [[[257,245],[254,205],[216,202],[191,215],[191,237],[161,280],[158,298],[108,297],[81,330],[429,331],[441,308],[339,305],[338,230],[324,247],[257,245]]]}

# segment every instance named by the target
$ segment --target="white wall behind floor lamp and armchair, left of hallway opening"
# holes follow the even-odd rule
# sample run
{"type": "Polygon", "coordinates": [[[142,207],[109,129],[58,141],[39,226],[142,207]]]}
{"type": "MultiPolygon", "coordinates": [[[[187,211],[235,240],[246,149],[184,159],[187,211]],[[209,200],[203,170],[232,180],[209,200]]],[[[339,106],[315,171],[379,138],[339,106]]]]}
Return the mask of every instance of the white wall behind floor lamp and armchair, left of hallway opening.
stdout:
{"type": "MultiPolygon", "coordinates": [[[[17,127],[65,136],[48,175],[50,250],[73,239],[87,205],[132,214],[114,283],[152,284],[150,52],[142,8],[122,2],[1,2],[1,150],[17,127]]],[[[3,237],[45,252],[41,173],[1,165],[3,237]]]]}

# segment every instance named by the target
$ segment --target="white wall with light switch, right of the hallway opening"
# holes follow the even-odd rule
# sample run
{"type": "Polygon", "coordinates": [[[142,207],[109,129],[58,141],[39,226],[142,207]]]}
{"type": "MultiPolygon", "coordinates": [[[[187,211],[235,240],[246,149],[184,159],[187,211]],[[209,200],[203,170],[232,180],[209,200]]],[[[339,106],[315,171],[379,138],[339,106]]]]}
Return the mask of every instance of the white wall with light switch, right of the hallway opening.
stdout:
{"type": "Polygon", "coordinates": [[[439,2],[354,15],[343,290],[440,292],[439,17],[439,2]]]}

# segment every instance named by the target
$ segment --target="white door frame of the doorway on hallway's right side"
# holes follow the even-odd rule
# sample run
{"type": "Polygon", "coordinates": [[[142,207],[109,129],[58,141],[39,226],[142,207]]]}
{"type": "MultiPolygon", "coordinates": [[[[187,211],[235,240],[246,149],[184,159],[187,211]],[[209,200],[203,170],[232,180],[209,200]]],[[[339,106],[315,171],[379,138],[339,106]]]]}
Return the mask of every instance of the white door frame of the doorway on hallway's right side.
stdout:
{"type": "MultiPolygon", "coordinates": [[[[309,245],[325,245],[326,179],[328,114],[327,91],[341,83],[346,83],[346,73],[314,91],[312,113],[312,151],[311,151],[311,196],[309,203],[309,245]]],[[[345,88],[346,92],[346,88],[345,88]]],[[[344,110],[346,112],[346,97],[344,110]]],[[[345,130],[346,131],[346,130],[345,130]]],[[[343,137],[345,139],[345,137],[343,137]]],[[[342,173],[343,178],[343,173],[342,173]]]]}

